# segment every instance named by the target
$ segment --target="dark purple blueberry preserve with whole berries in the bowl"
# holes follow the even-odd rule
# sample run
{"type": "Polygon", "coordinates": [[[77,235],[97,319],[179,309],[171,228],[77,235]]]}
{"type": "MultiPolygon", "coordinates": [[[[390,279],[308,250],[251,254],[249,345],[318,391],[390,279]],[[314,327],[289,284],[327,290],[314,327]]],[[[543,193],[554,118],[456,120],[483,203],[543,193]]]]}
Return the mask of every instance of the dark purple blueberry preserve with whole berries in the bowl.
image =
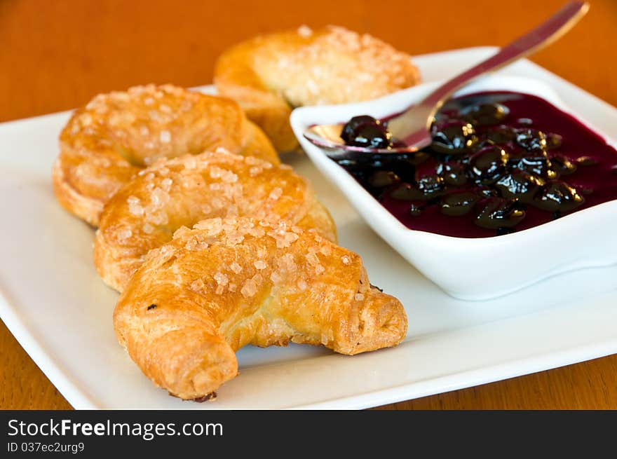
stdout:
{"type": "MultiPolygon", "coordinates": [[[[347,144],[395,146],[387,121],[352,118],[347,144]]],[[[458,97],[418,153],[337,159],[408,228],[461,238],[521,231],[617,199],[617,151],[540,97],[458,97]]]]}

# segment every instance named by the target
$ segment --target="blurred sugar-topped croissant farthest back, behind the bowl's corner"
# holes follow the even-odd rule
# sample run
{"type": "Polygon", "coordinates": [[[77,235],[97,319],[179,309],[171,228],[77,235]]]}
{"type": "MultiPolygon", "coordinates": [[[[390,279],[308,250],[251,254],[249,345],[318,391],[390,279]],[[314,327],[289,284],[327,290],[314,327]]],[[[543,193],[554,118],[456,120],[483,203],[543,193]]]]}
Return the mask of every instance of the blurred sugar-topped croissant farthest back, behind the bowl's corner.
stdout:
{"type": "Polygon", "coordinates": [[[293,107],[360,102],[416,85],[409,55],[342,27],[308,27],[244,41],[215,65],[220,95],[237,100],[278,151],[297,147],[293,107]]]}

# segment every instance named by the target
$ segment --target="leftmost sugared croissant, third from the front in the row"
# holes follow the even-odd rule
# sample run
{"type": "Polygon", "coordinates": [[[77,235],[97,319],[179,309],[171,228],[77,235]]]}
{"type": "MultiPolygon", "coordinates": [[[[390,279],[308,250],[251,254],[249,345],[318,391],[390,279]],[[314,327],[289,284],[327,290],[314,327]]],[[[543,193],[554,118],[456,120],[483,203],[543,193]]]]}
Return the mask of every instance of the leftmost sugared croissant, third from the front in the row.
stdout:
{"type": "Polygon", "coordinates": [[[232,100],[172,85],[97,95],[60,134],[55,195],[69,212],[97,226],[107,200],[143,167],[219,146],[278,164],[262,130],[232,100]]]}

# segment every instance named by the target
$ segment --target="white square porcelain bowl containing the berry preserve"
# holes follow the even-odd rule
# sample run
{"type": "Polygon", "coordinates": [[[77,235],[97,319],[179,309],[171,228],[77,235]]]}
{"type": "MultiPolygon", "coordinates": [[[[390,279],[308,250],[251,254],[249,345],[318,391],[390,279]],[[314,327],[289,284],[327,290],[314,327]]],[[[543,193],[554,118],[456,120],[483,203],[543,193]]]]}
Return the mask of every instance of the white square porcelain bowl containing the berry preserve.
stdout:
{"type": "MultiPolygon", "coordinates": [[[[380,118],[398,113],[438,84],[425,83],[369,102],[301,107],[292,113],[292,128],[313,164],[339,188],[367,224],[423,275],[456,298],[491,299],[552,275],[617,263],[617,200],[498,237],[454,238],[416,231],[400,223],[351,174],[302,135],[315,124],[341,123],[362,114],[380,118]]],[[[456,95],[484,90],[537,95],[581,120],[550,85],[534,78],[498,73],[467,85],[456,95]]],[[[598,132],[590,123],[583,123],[598,132]]],[[[611,143],[606,135],[602,136],[611,143]]]]}

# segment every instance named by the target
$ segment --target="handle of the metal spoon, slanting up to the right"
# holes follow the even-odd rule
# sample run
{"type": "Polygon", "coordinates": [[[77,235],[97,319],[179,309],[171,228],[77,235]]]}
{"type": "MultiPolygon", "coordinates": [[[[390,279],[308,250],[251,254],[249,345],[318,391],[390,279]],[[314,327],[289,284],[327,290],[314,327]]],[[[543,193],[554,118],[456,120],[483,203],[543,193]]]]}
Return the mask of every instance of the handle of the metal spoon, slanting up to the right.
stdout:
{"type": "MultiPolygon", "coordinates": [[[[462,85],[477,78],[478,76],[485,74],[489,71],[500,69],[501,67],[514,62],[517,59],[530,55],[536,50],[547,46],[553,41],[557,40],[569,31],[578,20],[580,20],[589,9],[589,4],[586,1],[571,1],[566,4],[560,11],[557,11],[548,20],[538,25],[535,29],[532,29],[527,34],[524,34],[520,38],[516,39],[507,46],[504,46],[499,50],[499,53],[489,57],[487,60],[476,64],[470,69],[463,71],[463,73],[450,79],[439,88],[426,96],[419,104],[414,106],[409,115],[415,120],[423,120],[426,123],[426,129],[430,128],[430,124],[433,122],[433,116],[437,113],[438,109],[444,104],[444,102],[462,85]]],[[[402,118],[406,118],[405,115],[402,118]]],[[[399,120],[398,120],[399,121],[399,120]]],[[[409,124],[411,119],[401,119],[399,122],[409,124]]],[[[419,127],[419,125],[418,125],[419,127]]],[[[426,130],[423,130],[426,132],[426,130]]],[[[422,132],[422,133],[423,133],[422,132]]],[[[417,137],[418,132],[414,133],[417,137]]],[[[407,144],[414,144],[418,139],[412,138],[405,139],[407,144]],[[410,141],[410,142],[409,142],[410,141]]]]}

